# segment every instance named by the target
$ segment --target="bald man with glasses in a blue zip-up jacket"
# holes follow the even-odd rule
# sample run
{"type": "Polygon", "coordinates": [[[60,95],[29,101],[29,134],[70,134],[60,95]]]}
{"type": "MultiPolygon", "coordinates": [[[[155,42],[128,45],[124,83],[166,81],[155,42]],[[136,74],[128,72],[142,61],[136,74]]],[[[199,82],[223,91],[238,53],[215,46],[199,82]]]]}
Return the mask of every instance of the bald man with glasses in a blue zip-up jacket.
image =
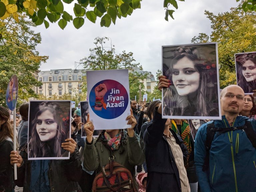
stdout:
{"type": "Polygon", "coordinates": [[[194,160],[201,192],[255,192],[256,149],[251,137],[256,135],[256,120],[239,115],[245,101],[244,91],[237,85],[222,90],[220,103],[222,120],[203,124],[195,139],[194,160]],[[214,134],[207,148],[209,130],[214,134]]]}

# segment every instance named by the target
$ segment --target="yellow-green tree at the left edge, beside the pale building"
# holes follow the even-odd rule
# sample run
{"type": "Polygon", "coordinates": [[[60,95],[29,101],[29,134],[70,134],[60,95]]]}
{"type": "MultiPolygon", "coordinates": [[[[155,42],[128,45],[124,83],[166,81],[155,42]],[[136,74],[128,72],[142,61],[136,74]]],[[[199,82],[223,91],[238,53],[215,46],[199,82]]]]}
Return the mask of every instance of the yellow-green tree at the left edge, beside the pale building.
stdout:
{"type": "Polygon", "coordinates": [[[37,97],[33,86],[40,86],[37,72],[41,62],[46,62],[47,56],[39,56],[36,45],[41,43],[39,33],[30,29],[33,22],[26,21],[24,15],[17,23],[13,17],[0,21],[0,100],[5,106],[5,92],[9,80],[16,74],[19,80],[18,102],[37,97]]]}

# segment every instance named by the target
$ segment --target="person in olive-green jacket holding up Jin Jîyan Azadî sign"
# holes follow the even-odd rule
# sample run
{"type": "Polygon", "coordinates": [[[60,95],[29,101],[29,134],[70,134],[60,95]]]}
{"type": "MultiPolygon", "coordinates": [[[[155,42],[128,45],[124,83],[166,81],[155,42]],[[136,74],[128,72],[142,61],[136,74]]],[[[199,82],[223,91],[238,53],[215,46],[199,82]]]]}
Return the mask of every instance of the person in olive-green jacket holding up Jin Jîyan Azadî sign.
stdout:
{"type": "Polygon", "coordinates": [[[114,156],[114,161],[127,168],[133,176],[133,184],[138,190],[135,178],[135,166],[144,162],[144,153],[142,152],[139,141],[135,135],[134,127],[136,120],[133,117],[132,110],[129,115],[127,131],[121,129],[103,130],[98,139],[93,139],[94,126],[88,116],[87,123],[84,125],[86,131],[86,143],[84,148],[84,168],[88,171],[100,172],[102,167],[109,163],[110,152],[114,156]]]}

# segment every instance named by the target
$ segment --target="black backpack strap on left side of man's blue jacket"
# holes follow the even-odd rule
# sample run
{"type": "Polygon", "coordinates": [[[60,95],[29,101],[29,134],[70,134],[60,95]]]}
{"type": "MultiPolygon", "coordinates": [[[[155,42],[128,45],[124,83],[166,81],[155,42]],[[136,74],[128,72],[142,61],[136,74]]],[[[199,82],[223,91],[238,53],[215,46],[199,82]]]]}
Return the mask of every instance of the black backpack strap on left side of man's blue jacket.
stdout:
{"type": "Polygon", "coordinates": [[[206,156],[204,158],[203,171],[207,171],[209,167],[210,148],[211,148],[214,135],[215,135],[214,122],[212,122],[207,124],[207,135],[206,135],[206,141],[205,141],[206,156]]]}

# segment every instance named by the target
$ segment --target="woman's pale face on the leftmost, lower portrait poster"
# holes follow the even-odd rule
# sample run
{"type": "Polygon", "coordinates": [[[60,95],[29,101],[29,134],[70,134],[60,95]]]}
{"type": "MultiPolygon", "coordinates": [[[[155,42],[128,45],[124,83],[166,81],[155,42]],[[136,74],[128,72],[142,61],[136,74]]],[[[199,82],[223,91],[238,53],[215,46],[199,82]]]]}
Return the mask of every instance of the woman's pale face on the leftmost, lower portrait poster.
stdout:
{"type": "Polygon", "coordinates": [[[53,114],[46,110],[37,117],[36,131],[41,141],[49,141],[57,134],[58,124],[53,114]]]}

